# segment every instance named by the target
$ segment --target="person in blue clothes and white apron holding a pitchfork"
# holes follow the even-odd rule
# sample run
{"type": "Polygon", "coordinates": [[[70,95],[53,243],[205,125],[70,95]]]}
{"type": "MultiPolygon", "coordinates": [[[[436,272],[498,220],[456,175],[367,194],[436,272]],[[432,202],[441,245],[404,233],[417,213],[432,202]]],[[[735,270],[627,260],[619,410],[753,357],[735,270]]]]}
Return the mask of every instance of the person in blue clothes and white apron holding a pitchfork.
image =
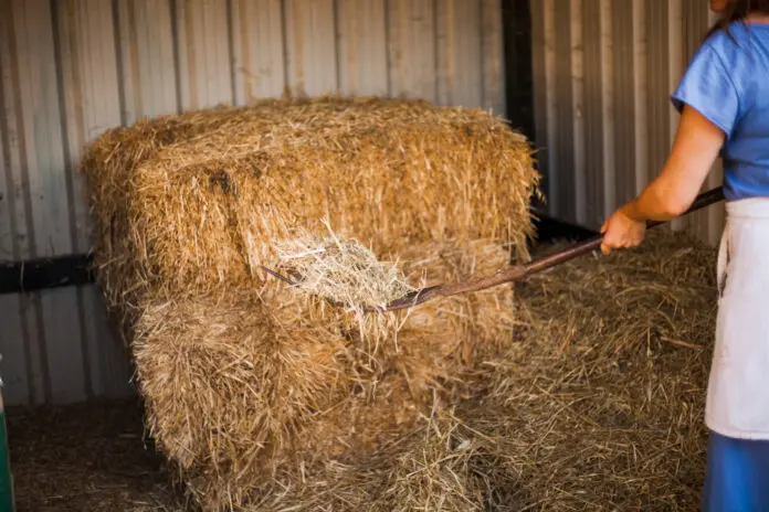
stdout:
{"type": "Polygon", "coordinates": [[[681,113],[664,168],[601,232],[635,247],[646,221],[692,205],[720,156],[726,228],[707,387],[704,511],[769,511],[769,0],[710,1],[719,21],[672,95],[681,113]]]}

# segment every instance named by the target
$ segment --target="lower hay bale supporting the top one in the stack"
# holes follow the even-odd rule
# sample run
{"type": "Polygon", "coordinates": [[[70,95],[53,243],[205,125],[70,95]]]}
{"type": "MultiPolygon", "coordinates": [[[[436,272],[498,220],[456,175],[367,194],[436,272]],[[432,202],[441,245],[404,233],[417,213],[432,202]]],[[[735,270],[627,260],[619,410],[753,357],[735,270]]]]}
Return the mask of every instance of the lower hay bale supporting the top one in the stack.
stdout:
{"type": "MultiPolygon", "coordinates": [[[[428,243],[401,265],[453,280],[508,258],[487,241],[428,243]]],[[[154,438],[206,510],[220,510],[273,495],[277,476],[297,486],[397,442],[463,395],[473,355],[505,346],[513,316],[509,287],[440,299],[372,348],[333,312],[265,286],[146,308],[134,354],[154,438]],[[499,324],[480,328],[481,316],[499,324]]]]}

